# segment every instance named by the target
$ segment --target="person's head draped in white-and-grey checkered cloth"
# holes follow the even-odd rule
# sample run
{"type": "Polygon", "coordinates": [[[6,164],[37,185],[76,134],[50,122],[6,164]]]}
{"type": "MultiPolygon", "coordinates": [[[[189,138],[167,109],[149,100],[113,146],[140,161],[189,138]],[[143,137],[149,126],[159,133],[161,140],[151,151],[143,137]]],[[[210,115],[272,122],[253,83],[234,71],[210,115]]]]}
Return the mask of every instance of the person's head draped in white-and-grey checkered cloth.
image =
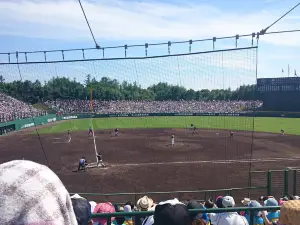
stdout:
{"type": "Polygon", "coordinates": [[[77,225],[68,191],[53,171],[27,160],[0,165],[0,224],[77,225]]]}

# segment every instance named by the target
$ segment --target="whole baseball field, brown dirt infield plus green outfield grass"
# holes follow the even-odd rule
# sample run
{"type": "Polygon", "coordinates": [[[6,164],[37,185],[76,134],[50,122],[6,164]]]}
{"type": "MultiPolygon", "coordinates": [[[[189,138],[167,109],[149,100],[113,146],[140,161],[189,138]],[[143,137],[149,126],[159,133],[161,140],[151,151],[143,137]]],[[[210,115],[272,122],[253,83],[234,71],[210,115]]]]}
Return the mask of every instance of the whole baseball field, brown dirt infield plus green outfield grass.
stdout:
{"type": "MultiPolygon", "coordinates": [[[[242,188],[249,185],[250,159],[252,170],[299,166],[300,136],[295,135],[300,134],[299,122],[300,119],[230,116],[65,120],[38,127],[39,135],[31,128],[2,136],[0,160],[24,158],[48,163],[70,192],[242,188]],[[191,124],[197,127],[197,133],[192,134],[191,124]],[[91,125],[94,137],[88,135],[91,125]],[[117,137],[113,135],[114,128],[119,129],[117,137]],[[255,132],[252,132],[253,128],[255,132]],[[281,129],[285,135],[281,135],[281,129]],[[229,137],[231,130],[234,131],[233,138],[229,137]],[[171,145],[172,134],[175,135],[174,146],[171,145]],[[96,161],[95,145],[107,167],[74,172],[82,156],[89,163],[96,161]]],[[[265,175],[251,179],[251,186],[265,183],[265,175]]],[[[274,185],[278,185],[278,193],[274,194],[282,194],[280,187],[283,184],[275,182],[274,185]]],[[[247,190],[241,190],[233,194],[245,197],[247,193],[247,190]]],[[[255,190],[254,194],[265,193],[266,190],[261,189],[255,190]]],[[[204,198],[193,195],[182,194],[180,197],[204,198]]],[[[152,197],[166,199],[167,194],[152,197]]],[[[135,200],[132,196],[90,198],[116,202],[135,200]]]]}

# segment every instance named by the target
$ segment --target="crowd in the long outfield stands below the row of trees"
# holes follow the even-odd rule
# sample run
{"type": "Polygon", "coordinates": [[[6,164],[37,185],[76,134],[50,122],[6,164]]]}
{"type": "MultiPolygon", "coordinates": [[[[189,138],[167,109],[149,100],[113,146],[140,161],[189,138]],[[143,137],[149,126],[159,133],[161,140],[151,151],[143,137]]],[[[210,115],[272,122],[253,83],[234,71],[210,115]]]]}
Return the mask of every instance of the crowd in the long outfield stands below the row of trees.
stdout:
{"type": "MultiPolygon", "coordinates": [[[[90,111],[89,100],[56,100],[45,102],[62,113],[90,111]]],[[[93,111],[111,113],[238,113],[262,106],[260,101],[92,101],[93,111]]]]}

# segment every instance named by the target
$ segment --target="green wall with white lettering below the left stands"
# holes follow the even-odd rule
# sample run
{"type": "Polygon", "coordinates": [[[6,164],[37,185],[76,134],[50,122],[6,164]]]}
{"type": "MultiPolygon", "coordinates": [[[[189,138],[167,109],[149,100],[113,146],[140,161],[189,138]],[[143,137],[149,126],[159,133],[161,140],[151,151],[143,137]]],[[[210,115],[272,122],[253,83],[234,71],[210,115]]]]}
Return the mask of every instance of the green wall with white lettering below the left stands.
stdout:
{"type": "Polygon", "coordinates": [[[9,122],[0,123],[0,134],[5,134],[9,131],[18,131],[29,127],[34,127],[34,125],[39,126],[51,122],[56,121],[55,114],[48,114],[45,116],[37,116],[34,118],[27,118],[27,119],[19,119],[9,122]]]}

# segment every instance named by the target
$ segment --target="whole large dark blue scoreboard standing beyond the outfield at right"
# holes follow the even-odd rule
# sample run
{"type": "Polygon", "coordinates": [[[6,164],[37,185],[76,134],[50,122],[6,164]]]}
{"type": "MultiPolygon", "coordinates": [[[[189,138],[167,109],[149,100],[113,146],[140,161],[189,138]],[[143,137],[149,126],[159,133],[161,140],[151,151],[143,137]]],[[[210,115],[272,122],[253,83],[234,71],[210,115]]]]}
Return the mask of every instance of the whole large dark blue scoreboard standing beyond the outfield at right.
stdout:
{"type": "Polygon", "coordinates": [[[257,90],[264,110],[300,112],[300,77],[257,79],[257,90]]]}

